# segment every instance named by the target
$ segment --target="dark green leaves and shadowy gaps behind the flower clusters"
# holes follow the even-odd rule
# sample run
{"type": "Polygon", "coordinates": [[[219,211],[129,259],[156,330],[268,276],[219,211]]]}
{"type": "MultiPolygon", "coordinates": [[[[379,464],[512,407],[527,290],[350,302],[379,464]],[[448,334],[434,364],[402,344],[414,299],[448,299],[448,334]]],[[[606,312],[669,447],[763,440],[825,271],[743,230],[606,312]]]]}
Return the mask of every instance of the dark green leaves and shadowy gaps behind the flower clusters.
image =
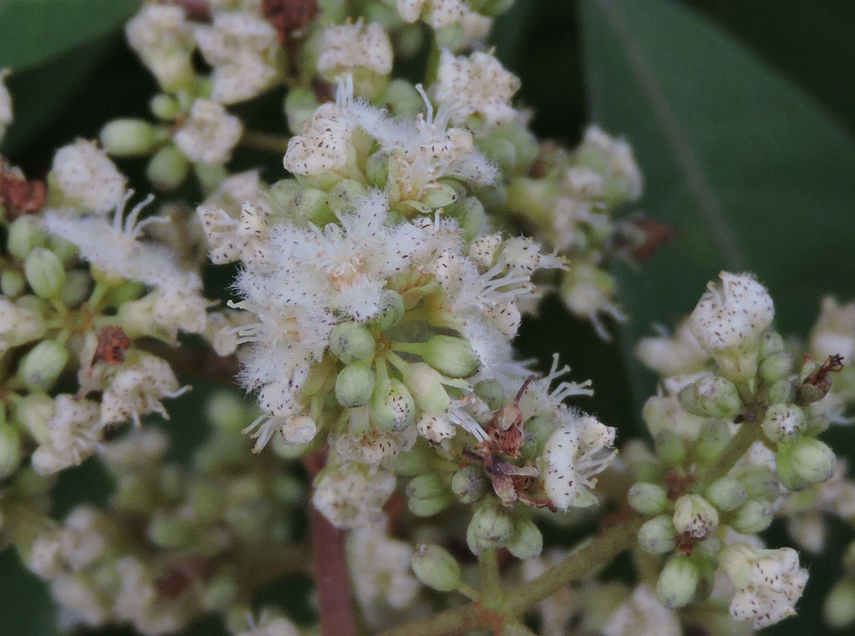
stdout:
{"type": "MultiPolygon", "coordinates": [[[[0,150],[31,178],[44,175],[58,146],[95,137],[110,116],[146,116],[155,85],[121,36],[136,5],[0,0],[0,68],[15,69],[8,81],[15,124],[0,150]]],[[[557,302],[524,324],[518,342],[544,360],[558,347],[575,377],[593,377],[598,395],[587,410],[624,439],[640,430],[640,401],[653,382],[632,360],[635,340],[652,323],[671,325],[688,312],[718,270],[755,271],[785,334],[805,334],[823,294],[855,297],[852,33],[848,0],[518,0],[498,22],[493,44],[522,77],[535,131],[574,143],[594,121],[626,136],[646,177],[637,209],[677,231],[650,263],[620,268],[619,297],[633,320],[616,343],[598,342],[557,302]]],[[[251,128],[277,130],[281,97],[238,110],[251,128]]],[[[280,175],[275,158],[237,158],[261,160],[268,177],[280,175]]],[[[139,175],[142,166],[121,167],[139,175]]],[[[227,280],[219,274],[211,285],[227,280]]],[[[186,414],[174,413],[170,431],[181,448],[203,437],[192,417],[203,393],[183,399],[186,414]]],[[[848,433],[838,431],[834,443],[852,457],[848,433]]],[[[69,473],[61,508],[98,494],[91,466],[69,473]]],[[[809,564],[799,617],[770,631],[820,633],[820,603],[839,574],[833,555],[850,534],[836,531],[809,564]]],[[[305,582],[288,585],[298,610],[305,582]]],[[[9,550],[0,555],[0,589],[3,634],[53,633],[44,589],[9,550]]],[[[213,629],[207,623],[192,633],[213,629]]]]}

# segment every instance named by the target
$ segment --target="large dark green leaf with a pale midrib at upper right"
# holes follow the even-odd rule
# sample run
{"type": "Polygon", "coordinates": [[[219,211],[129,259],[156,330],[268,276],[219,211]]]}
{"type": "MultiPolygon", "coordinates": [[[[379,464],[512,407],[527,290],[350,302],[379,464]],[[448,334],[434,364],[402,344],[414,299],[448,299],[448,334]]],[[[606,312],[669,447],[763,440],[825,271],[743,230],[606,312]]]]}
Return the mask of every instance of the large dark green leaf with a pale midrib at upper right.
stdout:
{"type": "MultiPolygon", "coordinates": [[[[768,285],[779,329],[804,334],[823,294],[855,295],[855,146],[823,110],[676,3],[580,3],[595,121],[623,134],[646,175],[641,202],[679,233],[622,275],[633,322],[690,312],[719,270],[768,285]]],[[[651,380],[635,373],[634,395],[651,380]]]]}

